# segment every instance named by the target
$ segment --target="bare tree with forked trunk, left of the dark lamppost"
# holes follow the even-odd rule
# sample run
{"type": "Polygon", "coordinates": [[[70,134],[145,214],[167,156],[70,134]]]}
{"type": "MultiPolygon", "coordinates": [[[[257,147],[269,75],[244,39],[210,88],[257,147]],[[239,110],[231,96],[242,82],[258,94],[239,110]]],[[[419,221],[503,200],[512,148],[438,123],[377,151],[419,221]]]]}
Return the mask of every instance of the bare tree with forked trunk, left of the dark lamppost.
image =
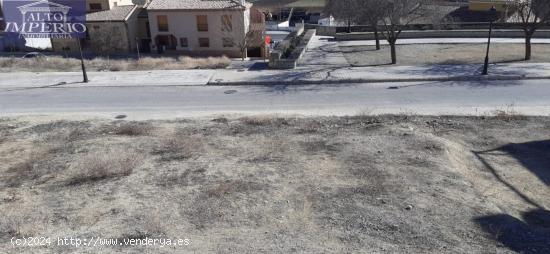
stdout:
{"type": "Polygon", "coordinates": [[[381,23],[382,34],[390,44],[391,62],[397,63],[396,43],[403,29],[421,18],[430,17],[430,0],[384,0],[381,23]]]}

